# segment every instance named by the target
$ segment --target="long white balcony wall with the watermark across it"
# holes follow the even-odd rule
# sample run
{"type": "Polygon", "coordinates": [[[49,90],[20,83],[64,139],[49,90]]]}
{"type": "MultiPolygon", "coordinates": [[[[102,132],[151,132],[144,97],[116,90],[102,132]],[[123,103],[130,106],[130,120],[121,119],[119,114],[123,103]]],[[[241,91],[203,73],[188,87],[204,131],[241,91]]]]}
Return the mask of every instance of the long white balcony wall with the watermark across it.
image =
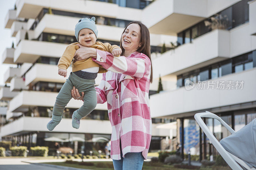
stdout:
{"type": "MultiPolygon", "coordinates": [[[[153,118],[186,117],[205,110],[213,113],[251,108],[256,105],[256,68],[239,73],[206,81],[205,89],[197,89],[197,84],[191,90],[185,87],[162,92],[150,96],[150,110],[153,118]],[[243,88],[239,89],[216,89],[217,81],[244,81],[243,88]],[[214,81],[215,86],[207,90],[208,83],[214,81]]],[[[235,85],[234,85],[235,86],[235,85]]]]}

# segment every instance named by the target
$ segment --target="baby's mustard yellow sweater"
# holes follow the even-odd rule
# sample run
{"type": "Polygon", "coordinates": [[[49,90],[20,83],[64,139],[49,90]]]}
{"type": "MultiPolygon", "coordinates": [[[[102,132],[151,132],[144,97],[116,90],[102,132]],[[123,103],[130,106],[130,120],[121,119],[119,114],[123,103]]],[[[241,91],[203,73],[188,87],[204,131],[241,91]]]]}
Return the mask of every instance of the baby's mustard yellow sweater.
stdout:
{"type": "MultiPolygon", "coordinates": [[[[90,67],[100,67],[98,73],[105,73],[108,70],[104,69],[101,65],[98,63],[95,63],[92,61],[92,57],[87,58],[85,60],[76,61],[75,63],[72,61],[73,57],[75,55],[76,50],[79,48],[78,44],[79,42],[75,42],[72,44],[69,44],[66,50],[64,51],[63,55],[60,57],[59,63],[58,63],[58,69],[65,69],[67,70],[70,63],[72,66],[72,72],[87,69],[90,67]]],[[[94,45],[91,46],[91,48],[96,48],[102,51],[108,51],[109,53],[112,52],[113,49],[120,48],[117,45],[112,45],[109,43],[102,43],[102,42],[95,42],[94,45]]]]}

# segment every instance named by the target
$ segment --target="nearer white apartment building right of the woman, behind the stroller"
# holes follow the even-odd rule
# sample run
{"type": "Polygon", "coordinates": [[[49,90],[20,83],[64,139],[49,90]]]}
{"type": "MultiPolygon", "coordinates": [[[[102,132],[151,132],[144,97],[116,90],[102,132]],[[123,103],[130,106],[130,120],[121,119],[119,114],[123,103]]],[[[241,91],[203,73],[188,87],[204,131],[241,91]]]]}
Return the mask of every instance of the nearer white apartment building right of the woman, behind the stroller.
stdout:
{"type": "MultiPolygon", "coordinates": [[[[152,13],[159,22],[148,26],[151,33],[175,34],[177,47],[152,61],[154,78],[175,79],[176,87],[150,96],[151,116],[177,119],[181,154],[206,159],[218,153],[196,113],[219,115],[236,131],[256,118],[256,1],[158,0],[145,10],[163,3],[152,13]]],[[[220,122],[204,121],[219,141],[230,135],[220,122]]]]}

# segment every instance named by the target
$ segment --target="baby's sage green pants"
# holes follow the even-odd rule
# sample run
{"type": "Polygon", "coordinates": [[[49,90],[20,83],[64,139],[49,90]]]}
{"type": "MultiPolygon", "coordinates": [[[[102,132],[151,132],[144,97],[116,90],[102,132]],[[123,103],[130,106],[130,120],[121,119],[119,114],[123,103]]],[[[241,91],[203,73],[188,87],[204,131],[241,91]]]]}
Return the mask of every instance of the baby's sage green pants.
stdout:
{"type": "Polygon", "coordinates": [[[71,90],[73,86],[81,92],[84,92],[84,104],[82,107],[77,109],[73,114],[77,119],[82,119],[84,116],[92,112],[92,110],[97,105],[96,90],[94,88],[95,80],[87,80],[76,76],[74,73],[70,73],[67,81],[61,87],[52,111],[52,120],[60,121],[62,119],[62,114],[70,101],[71,90]]]}

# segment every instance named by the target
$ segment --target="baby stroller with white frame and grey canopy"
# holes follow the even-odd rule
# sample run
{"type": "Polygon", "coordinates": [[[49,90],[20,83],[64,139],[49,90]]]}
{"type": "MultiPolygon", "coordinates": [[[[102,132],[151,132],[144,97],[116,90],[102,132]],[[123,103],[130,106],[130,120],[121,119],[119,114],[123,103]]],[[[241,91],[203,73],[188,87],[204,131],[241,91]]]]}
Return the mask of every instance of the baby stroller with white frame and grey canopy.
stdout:
{"type": "Polygon", "coordinates": [[[201,127],[201,129],[204,131],[205,135],[212,142],[213,146],[216,148],[216,150],[220,153],[222,158],[227,162],[227,164],[233,170],[243,170],[243,169],[256,170],[255,169],[255,164],[254,164],[256,162],[256,148],[255,148],[255,146],[256,146],[255,145],[256,144],[256,133],[255,133],[255,130],[253,130],[254,132],[251,130],[250,131],[250,133],[251,133],[250,137],[248,136],[248,138],[245,139],[245,141],[247,141],[247,143],[246,142],[240,143],[241,145],[245,144],[244,148],[250,147],[250,150],[251,150],[251,154],[250,155],[248,155],[248,154],[246,155],[244,151],[241,152],[241,150],[239,150],[239,146],[240,145],[232,146],[232,144],[238,144],[239,141],[241,142],[243,140],[243,139],[240,138],[241,140],[238,140],[238,141],[234,142],[234,139],[238,139],[239,138],[239,137],[237,137],[237,135],[239,135],[239,133],[240,133],[240,135],[242,133],[244,133],[244,134],[246,133],[247,134],[248,133],[248,128],[250,128],[250,127],[251,127],[251,129],[252,128],[256,128],[255,127],[256,126],[256,120],[255,119],[254,119],[254,121],[252,121],[251,123],[246,125],[247,127],[244,127],[244,131],[243,131],[243,128],[242,128],[242,129],[239,130],[240,132],[237,131],[236,134],[234,134],[235,130],[233,130],[230,126],[228,126],[228,124],[226,122],[224,122],[222,119],[220,119],[219,116],[217,116],[217,115],[215,115],[215,114],[213,114],[211,112],[206,111],[204,113],[197,113],[194,117],[196,119],[196,122],[201,127]],[[210,129],[207,128],[207,126],[205,125],[204,121],[202,120],[202,117],[217,119],[233,135],[230,135],[229,137],[224,138],[225,140],[222,139],[219,142],[213,136],[213,134],[210,131],[210,129]],[[253,135],[254,135],[254,137],[253,137],[253,135]],[[253,142],[248,143],[248,140],[250,140],[250,139],[252,139],[252,141],[254,139],[254,144],[251,145],[251,143],[253,143],[253,142]],[[248,144],[250,144],[251,146],[248,145],[248,144]],[[222,145],[225,147],[225,149],[224,149],[224,147],[222,145]],[[230,145],[231,145],[231,147],[230,147],[230,145]],[[235,147],[236,147],[236,149],[234,150],[235,147]],[[230,152],[232,152],[233,154],[230,153],[230,152]],[[235,154],[236,156],[234,155],[234,152],[236,153],[235,154]],[[246,161],[244,161],[244,160],[246,160],[246,161]],[[248,162],[250,162],[250,163],[248,163],[248,162]]]}

